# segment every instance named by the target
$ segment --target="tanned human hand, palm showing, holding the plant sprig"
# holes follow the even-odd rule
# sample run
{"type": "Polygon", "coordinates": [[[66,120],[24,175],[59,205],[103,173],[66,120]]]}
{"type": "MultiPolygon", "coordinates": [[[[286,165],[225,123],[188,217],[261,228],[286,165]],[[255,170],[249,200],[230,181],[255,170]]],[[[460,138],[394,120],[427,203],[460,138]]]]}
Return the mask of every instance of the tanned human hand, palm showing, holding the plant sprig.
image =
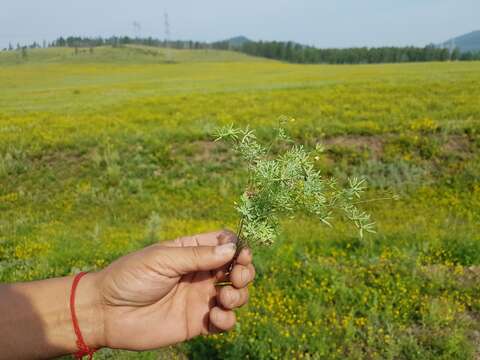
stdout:
{"type": "Polygon", "coordinates": [[[102,324],[89,345],[149,350],[231,329],[232,310],[247,302],[255,276],[251,252],[243,249],[230,274],[233,286],[216,287],[225,280],[235,243],[228,231],[183,237],[89,274],[102,324]]]}

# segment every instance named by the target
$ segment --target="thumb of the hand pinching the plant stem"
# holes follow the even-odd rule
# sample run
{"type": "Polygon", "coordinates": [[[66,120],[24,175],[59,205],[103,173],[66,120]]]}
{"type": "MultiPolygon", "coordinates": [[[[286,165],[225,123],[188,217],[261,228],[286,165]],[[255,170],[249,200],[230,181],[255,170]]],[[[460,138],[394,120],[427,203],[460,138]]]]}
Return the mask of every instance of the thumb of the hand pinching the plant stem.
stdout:
{"type": "Polygon", "coordinates": [[[166,268],[176,275],[215,270],[231,261],[235,255],[234,243],[218,246],[165,247],[162,249],[166,268]]]}

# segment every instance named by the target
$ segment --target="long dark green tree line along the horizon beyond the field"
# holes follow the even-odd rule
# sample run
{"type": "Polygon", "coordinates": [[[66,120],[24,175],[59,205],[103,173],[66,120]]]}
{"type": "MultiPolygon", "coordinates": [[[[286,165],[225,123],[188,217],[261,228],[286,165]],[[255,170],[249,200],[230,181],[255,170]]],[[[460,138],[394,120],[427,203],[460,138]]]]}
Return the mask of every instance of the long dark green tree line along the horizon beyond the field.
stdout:
{"type": "MultiPolygon", "coordinates": [[[[28,46],[17,44],[17,50],[37,47],[120,47],[129,44],[169,47],[173,49],[220,49],[239,51],[252,56],[265,57],[300,64],[378,64],[424,61],[473,61],[480,60],[480,51],[461,52],[458,48],[446,49],[434,45],[425,47],[357,47],[346,49],[319,49],[294,42],[282,41],[246,41],[232,45],[229,41],[213,43],[192,40],[161,40],[152,37],[132,38],[129,36],[102,37],[59,37],[52,42],[43,42],[43,46],[34,42],[28,46]]],[[[7,49],[4,49],[7,50],[7,49]]],[[[8,50],[14,50],[10,44],[8,50]]]]}

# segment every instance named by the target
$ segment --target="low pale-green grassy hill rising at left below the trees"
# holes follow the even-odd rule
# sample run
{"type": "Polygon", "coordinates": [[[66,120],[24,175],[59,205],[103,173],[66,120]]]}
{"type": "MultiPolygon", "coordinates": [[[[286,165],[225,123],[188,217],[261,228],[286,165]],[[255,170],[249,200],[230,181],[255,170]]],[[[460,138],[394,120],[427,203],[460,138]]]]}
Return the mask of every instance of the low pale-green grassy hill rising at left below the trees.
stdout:
{"type": "Polygon", "coordinates": [[[213,49],[166,49],[143,45],[95,48],[54,47],[0,52],[0,66],[22,63],[119,63],[163,64],[192,62],[267,61],[235,51],[213,49]]]}

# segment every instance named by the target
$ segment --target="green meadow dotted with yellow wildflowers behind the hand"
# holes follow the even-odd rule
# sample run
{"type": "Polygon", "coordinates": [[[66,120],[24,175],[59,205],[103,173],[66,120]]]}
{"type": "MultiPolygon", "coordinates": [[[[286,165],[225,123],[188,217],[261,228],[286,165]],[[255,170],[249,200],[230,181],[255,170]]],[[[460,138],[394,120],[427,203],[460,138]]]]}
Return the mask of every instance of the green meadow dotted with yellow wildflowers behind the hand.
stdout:
{"type": "Polygon", "coordinates": [[[365,176],[377,234],[286,221],[235,331],[115,359],[480,356],[480,63],[291,65],[146,47],[0,53],[0,281],[99,269],[235,228],[218,125],[279,116],[327,175],[365,176]]]}

